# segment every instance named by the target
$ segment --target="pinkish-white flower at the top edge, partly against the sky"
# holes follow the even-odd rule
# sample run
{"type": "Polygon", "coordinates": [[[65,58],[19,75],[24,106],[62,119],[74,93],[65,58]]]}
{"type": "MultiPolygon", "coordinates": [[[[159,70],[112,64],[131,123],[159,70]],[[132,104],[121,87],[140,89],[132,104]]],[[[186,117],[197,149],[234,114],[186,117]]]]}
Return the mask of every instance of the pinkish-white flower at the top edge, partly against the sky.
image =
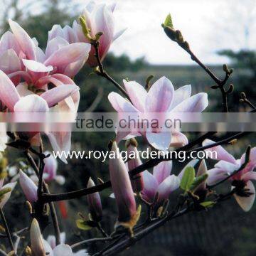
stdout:
{"type": "MultiPolygon", "coordinates": [[[[91,1],[85,9],[83,16],[85,17],[85,21],[87,23],[87,27],[90,29],[90,36],[95,37],[95,35],[99,32],[102,32],[102,36],[100,36],[100,60],[105,58],[107,51],[110,49],[110,46],[114,40],[119,38],[119,36],[124,33],[125,29],[114,33],[114,8],[116,4],[112,4],[111,6],[107,6],[106,4],[95,4],[94,1],[91,1]]],[[[64,29],[64,28],[63,28],[64,29]]],[[[80,42],[88,42],[88,39],[85,37],[84,33],[82,33],[82,26],[79,23],[74,21],[73,29],[78,37],[78,41],[80,42]]],[[[69,28],[66,28],[66,31],[69,31],[69,35],[71,35],[71,31],[69,28]]],[[[75,36],[70,36],[70,38],[75,38],[75,36]]],[[[97,59],[95,58],[95,48],[91,48],[90,55],[87,60],[87,63],[91,67],[96,67],[97,59]]]]}

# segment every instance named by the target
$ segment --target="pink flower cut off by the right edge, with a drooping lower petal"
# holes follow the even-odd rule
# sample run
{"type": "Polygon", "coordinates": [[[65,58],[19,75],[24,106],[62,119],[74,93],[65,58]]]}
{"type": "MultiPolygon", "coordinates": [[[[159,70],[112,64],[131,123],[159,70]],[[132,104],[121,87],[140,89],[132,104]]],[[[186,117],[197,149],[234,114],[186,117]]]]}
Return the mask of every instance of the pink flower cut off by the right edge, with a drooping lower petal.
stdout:
{"type": "MultiPolygon", "coordinates": [[[[210,139],[206,139],[203,142],[203,146],[213,144],[215,142],[210,139]]],[[[234,156],[228,153],[222,146],[213,146],[206,151],[215,151],[214,154],[208,154],[210,157],[213,156],[213,159],[219,160],[215,164],[213,169],[208,170],[208,185],[213,185],[218,183],[218,181],[223,180],[227,176],[233,174],[234,171],[240,169],[242,164],[245,163],[245,154],[242,154],[240,159],[235,159],[234,156]]],[[[249,193],[252,193],[250,196],[238,196],[235,194],[235,199],[238,202],[239,206],[248,211],[252,208],[253,202],[255,201],[255,187],[253,186],[252,180],[256,180],[256,172],[253,171],[256,167],[256,147],[250,150],[250,161],[245,166],[244,169],[238,172],[238,174],[230,177],[230,181],[241,181],[244,188],[248,189],[249,193]]]]}

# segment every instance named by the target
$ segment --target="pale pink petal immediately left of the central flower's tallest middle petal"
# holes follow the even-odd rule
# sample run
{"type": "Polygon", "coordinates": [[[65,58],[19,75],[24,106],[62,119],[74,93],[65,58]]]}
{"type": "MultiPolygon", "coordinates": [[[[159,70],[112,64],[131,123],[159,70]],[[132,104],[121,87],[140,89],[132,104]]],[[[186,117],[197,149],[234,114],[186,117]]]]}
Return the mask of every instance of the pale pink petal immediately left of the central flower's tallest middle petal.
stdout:
{"type": "Polygon", "coordinates": [[[123,80],[123,82],[134,107],[140,112],[144,112],[147,95],[144,87],[135,81],[127,82],[127,80],[123,80]]]}

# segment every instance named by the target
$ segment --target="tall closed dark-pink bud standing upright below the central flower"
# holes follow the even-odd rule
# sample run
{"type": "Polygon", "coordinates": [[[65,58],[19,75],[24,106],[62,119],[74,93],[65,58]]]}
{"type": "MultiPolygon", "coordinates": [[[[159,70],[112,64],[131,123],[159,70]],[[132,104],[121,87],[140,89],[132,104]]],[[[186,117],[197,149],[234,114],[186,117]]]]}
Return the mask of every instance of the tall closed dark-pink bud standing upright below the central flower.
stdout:
{"type": "MultiPolygon", "coordinates": [[[[118,222],[123,225],[130,223],[132,227],[137,222],[137,209],[132,191],[132,184],[124,161],[117,157],[119,149],[117,143],[113,142],[112,151],[115,156],[110,159],[110,181],[114,192],[114,198],[117,201],[118,222]]],[[[129,226],[129,228],[132,228],[129,226]]]]}

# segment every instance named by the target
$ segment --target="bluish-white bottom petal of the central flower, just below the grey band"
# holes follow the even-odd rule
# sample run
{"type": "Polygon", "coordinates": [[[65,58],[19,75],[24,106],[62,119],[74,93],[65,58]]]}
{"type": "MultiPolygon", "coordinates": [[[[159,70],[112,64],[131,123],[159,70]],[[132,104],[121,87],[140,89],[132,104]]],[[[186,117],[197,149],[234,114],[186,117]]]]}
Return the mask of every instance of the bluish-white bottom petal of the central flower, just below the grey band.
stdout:
{"type": "Polygon", "coordinates": [[[146,132],[146,139],[155,149],[166,150],[171,144],[171,132],[146,132]]]}

